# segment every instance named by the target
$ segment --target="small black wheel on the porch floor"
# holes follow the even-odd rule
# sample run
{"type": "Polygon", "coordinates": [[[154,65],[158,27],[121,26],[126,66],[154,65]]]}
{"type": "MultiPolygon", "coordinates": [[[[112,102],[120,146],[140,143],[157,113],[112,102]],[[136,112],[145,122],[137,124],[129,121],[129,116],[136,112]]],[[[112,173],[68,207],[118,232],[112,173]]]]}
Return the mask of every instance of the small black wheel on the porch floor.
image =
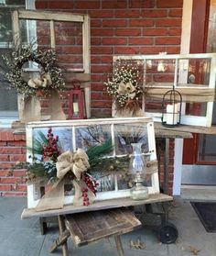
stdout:
{"type": "Polygon", "coordinates": [[[175,243],[178,239],[178,229],[175,225],[167,222],[158,228],[158,239],[165,244],[175,243]]]}

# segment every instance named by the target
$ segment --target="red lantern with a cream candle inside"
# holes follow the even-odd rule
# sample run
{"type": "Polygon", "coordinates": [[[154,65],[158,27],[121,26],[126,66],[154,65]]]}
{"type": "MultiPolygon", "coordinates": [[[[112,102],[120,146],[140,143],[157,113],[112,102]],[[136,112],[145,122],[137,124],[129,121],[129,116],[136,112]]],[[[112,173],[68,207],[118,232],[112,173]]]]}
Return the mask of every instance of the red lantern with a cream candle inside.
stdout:
{"type": "Polygon", "coordinates": [[[86,118],[85,92],[79,80],[73,80],[73,88],[69,94],[69,119],[86,118]]]}

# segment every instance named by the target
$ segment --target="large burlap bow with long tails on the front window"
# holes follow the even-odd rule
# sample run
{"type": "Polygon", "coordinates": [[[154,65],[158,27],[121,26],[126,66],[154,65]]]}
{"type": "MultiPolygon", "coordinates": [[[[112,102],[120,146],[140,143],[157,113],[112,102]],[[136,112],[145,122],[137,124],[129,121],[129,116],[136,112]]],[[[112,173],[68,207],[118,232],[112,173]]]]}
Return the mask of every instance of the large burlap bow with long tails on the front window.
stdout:
{"type": "Polygon", "coordinates": [[[62,153],[58,157],[56,163],[57,167],[57,177],[59,180],[53,184],[52,189],[46,193],[38,202],[36,211],[46,211],[50,209],[59,209],[64,205],[64,184],[65,184],[65,175],[67,173],[73,173],[75,179],[73,184],[75,187],[75,196],[74,196],[74,205],[82,205],[81,201],[81,189],[79,186],[81,184],[81,173],[85,172],[90,168],[89,158],[84,150],[78,149],[76,152],[71,152],[70,150],[62,153]],[[77,191],[76,191],[77,190],[77,191]],[[78,196],[79,195],[79,196],[78,196]],[[76,199],[79,199],[79,203],[76,202],[76,199]]]}

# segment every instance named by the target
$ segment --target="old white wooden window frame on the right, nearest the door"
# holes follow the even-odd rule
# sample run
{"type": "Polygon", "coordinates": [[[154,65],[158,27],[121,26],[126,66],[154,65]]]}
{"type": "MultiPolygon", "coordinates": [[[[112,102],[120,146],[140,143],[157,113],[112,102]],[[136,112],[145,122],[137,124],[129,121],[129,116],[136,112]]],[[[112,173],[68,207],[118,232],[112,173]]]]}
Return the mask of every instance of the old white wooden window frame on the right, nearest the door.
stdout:
{"type": "MultiPolygon", "coordinates": [[[[155,90],[160,89],[161,92],[166,93],[167,90],[171,89],[172,86],[183,93],[187,90],[198,90],[201,96],[202,90],[205,89],[205,91],[210,96],[211,100],[206,101],[207,102],[207,110],[206,110],[206,116],[200,117],[200,116],[189,116],[189,115],[182,115],[181,117],[181,124],[185,125],[194,125],[194,126],[204,126],[204,127],[211,127],[211,118],[212,118],[212,111],[213,111],[213,101],[214,101],[214,90],[215,90],[215,81],[216,81],[216,53],[199,53],[199,54],[165,54],[165,55],[114,55],[113,56],[113,65],[115,61],[144,61],[144,84],[143,86],[146,87],[146,91],[151,94],[155,94],[155,90]],[[178,76],[180,77],[181,81],[184,81],[184,83],[187,83],[188,78],[188,72],[178,72],[178,61],[179,60],[191,60],[191,59],[210,59],[211,60],[211,71],[210,71],[210,82],[208,86],[204,86],[202,84],[196,84],[197,86],[178,86],[178,76]],[[160,84],[151,84],[148,85],[146,83],[146,62],[147,61],[163,61],[163,60],[171,60],[175,61],[175,75],[174,75],[174,81],[173,83],[160,83],[160,84]]],[[[198,101],[199,102],[199,101],[198,101]]],[[[145,110],[145,106],[143,106],[143,109],[145,110]]],[[[145,112],[146,117],[153,117],[154,121],[160,122],[161,121],[161,113],[151,113],[151,112],[145,112]]]]}

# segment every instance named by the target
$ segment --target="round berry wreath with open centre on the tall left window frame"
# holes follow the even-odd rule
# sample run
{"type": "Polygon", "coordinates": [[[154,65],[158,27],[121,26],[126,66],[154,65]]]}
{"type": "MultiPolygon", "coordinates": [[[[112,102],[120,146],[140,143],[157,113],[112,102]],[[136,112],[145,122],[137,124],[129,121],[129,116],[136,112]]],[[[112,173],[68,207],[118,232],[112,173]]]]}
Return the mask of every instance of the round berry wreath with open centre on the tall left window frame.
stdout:
{"type": "Polygon", "coordinates": [[[55,50],[43,51],[35,49],[34,46],[19,46],[2,58],[5,62],[5,81],[25,97],[46,96],[50,94],[50,89],[61,91],[65,85],[62,71],[57,66],[55,50]],[[24,79],[24,65],[28,61],[38,63],[41,71],[38,80],[24,79]]]}

